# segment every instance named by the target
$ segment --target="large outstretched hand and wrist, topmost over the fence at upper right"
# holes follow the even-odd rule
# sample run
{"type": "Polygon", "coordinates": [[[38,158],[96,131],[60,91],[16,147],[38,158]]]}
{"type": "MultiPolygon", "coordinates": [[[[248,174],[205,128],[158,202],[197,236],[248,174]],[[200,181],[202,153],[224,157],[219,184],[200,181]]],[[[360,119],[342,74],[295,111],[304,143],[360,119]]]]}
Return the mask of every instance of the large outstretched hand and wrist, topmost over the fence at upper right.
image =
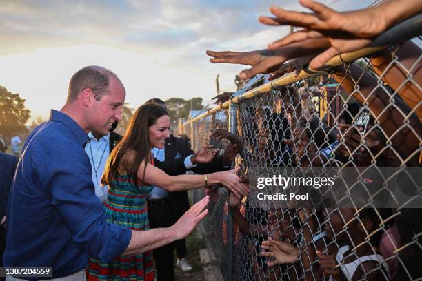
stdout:
{"type": "Polygon", "coordinates": [[[269,49],[307,39],[328,39],[330,48],[310,62],[310,67],[316,69],[341,52],[365,47],[392,23],[422,10],[421,3],[416,3],[418,1],[403,1],[404,4],[394,0],[387,2],[365,10],[336,12],[321,3],[301,0],[302,6],[310,8],[314,13],[288,11],[273,6],[270,11],[275,17],[260,17],[259,21],[266,25],[293,25],[304,28],[268,45],[269,49]]]}

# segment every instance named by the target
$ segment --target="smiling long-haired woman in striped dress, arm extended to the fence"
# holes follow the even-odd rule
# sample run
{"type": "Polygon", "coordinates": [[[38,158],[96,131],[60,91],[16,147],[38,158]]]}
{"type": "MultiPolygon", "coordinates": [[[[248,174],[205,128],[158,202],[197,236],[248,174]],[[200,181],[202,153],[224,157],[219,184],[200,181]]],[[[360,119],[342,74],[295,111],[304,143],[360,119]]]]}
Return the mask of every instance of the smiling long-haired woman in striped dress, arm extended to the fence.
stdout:
{"type": "MultiPolygon", "coordinates": [[[[114,148],[103,175],[109,186],[105,203],[108,223],[134,230],[149,229],[146,196],[153,186],[180,191],[219,183],[234,194],[248,194],[237,170],[203,175],[168,176],[154,167],[152,147],[162,149],[170,136],[168,112],[159,105],[142,105],[134,113],[121,142],[114,148]]],[[[154,280],[152,251],[120,256],[112,262],[90,258],[88,280],[154,280]]]]}

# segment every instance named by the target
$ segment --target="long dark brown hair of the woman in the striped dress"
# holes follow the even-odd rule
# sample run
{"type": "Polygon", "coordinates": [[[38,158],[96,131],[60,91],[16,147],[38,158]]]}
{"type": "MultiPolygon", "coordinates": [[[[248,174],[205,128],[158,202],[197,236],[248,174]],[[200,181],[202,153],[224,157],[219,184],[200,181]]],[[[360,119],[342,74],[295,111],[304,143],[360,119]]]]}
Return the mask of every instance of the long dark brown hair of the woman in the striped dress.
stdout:
{"type": "MultiPolygon", "coordinates": [[[[123,167],[132,177],[130,181],[137,185],[137,171],[139,165],[146,160],[150,162],[150,134],[148,128],[157,122],[161,116],[168,115],[168,112],[161,106],[154,103],[142,105],[134,112],[120,143],[114,147],[107,160],[106,170],[102,178],[103,183],[110,186],[112,179],[119,174],[119,165],[123,156],[129,156],[134,152],[132,163],[123,167]]],[[[121,167],[122,168],[122,167],[121,167]]],[[[146,165],[145,165],[146,169],[146,165]]],[[[145,169],[143,177],[145,178],[145,169]]]]}

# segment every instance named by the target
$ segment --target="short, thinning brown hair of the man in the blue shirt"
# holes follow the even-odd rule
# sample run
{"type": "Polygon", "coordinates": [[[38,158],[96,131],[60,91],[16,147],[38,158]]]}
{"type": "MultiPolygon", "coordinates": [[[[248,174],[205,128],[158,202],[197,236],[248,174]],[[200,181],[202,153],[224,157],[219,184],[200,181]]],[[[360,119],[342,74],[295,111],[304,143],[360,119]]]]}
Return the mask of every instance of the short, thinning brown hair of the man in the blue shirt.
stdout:
{"type": "Polygon", "coordinates": [[[95,65],[83,67],[70,79],[68,103],[76,101],[78,94],[84,89],[91,89],[95,99],[99,101],[101,96],[108,94],[110,77],[120,81],[116,74],[104,67],[95,65]]]}

